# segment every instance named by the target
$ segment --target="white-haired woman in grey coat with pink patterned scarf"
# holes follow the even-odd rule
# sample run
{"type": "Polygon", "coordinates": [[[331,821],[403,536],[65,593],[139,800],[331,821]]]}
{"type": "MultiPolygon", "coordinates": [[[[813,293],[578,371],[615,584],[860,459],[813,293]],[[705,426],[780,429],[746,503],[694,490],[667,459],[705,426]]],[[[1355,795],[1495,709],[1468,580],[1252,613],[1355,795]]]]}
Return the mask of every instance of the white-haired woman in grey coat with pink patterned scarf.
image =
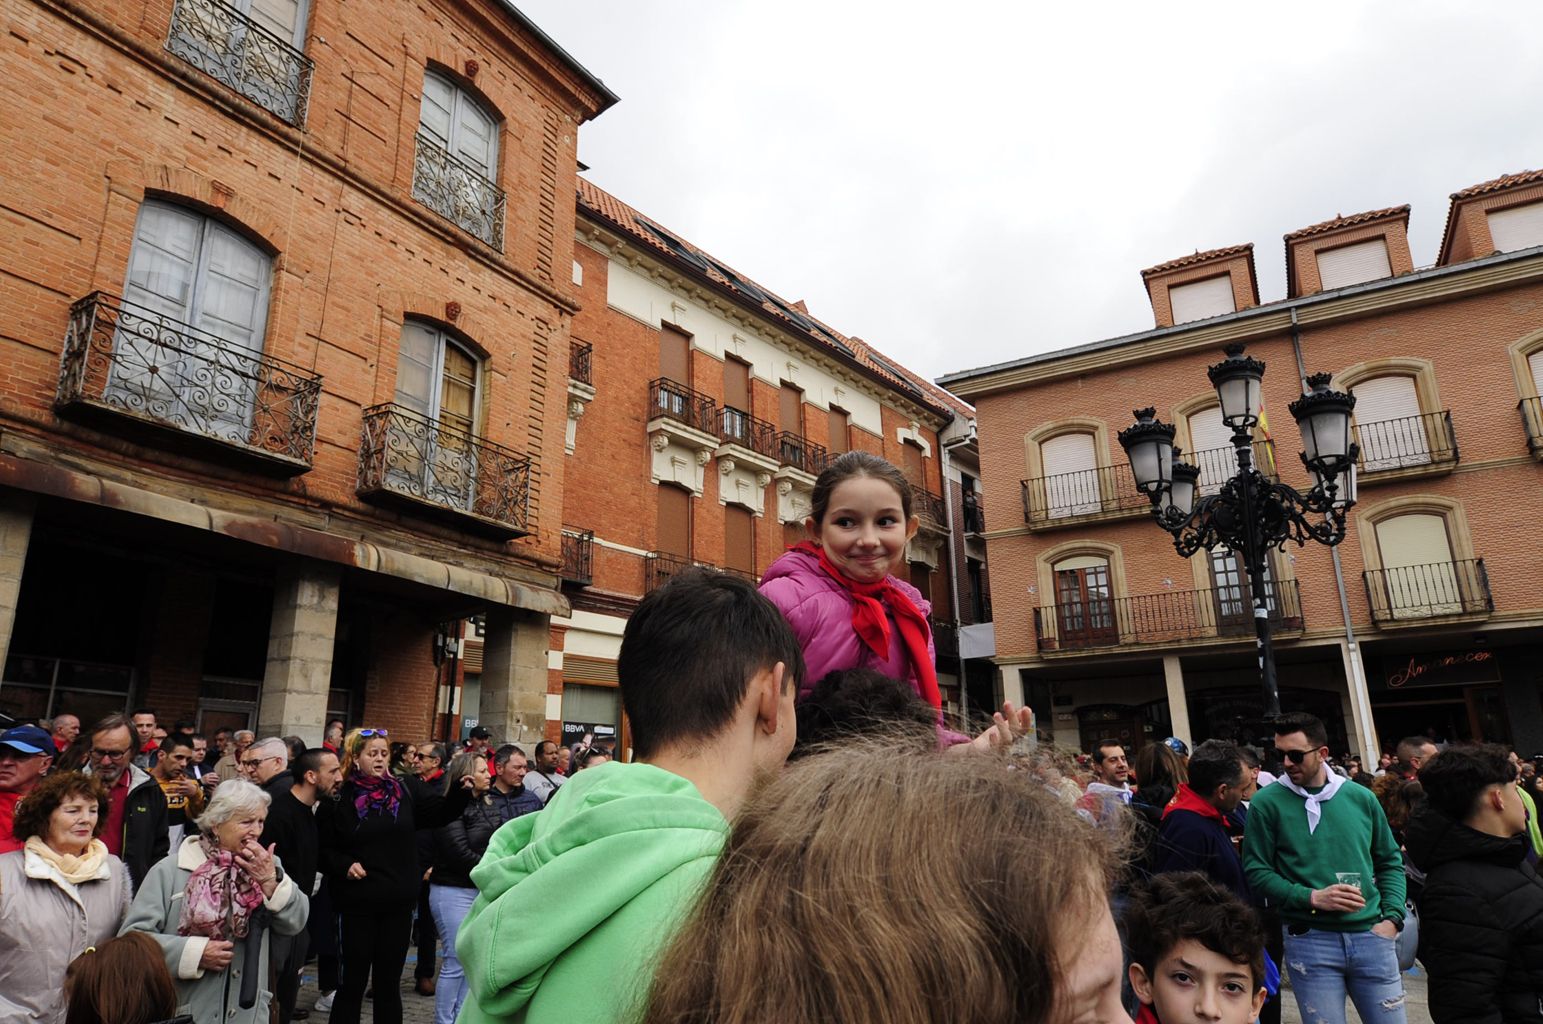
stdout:
{"type": "Polygon", "coordinates": [[[222,782],[188,836],[145,876],[123,931],[160,944],[177,1001],[196,1021],[265,1024],[267,933],[298,935],[310,902],[258,844],[268,794],[245,779],[222,782]],[[252,1004],[242,1007],[242,989],[252,1004]]]}

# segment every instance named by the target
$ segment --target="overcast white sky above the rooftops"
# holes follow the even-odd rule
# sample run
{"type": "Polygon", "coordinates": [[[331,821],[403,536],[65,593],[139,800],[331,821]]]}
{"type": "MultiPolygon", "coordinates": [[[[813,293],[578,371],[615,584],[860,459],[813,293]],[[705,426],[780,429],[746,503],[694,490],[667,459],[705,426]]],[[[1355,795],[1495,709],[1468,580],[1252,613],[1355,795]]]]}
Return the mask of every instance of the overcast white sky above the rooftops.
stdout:
{"type": "Polygon", "coordinates": [[[1140,270],[1543,167],[1543,5],[515,0],[593,182],[935,378],[1153,325],[1140,270]]]}

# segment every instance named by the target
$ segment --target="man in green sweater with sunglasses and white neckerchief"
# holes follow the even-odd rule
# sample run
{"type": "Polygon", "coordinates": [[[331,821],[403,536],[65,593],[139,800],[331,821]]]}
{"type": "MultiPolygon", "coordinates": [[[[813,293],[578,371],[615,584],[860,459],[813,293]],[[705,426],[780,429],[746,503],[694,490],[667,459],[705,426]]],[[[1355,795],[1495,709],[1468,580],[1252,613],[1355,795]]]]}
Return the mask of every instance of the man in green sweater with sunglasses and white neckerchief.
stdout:
{"type": "Polygon", "coordinates": [[[1329,736],[1310,714],[1281,716],[1285,773],[1248,807],[1244,874],[1285,924],[1285,970],[1304,1021],[1406,1024],[1395,939],[1404,861],[1376,796],[1329,771],[1329,736]]]}

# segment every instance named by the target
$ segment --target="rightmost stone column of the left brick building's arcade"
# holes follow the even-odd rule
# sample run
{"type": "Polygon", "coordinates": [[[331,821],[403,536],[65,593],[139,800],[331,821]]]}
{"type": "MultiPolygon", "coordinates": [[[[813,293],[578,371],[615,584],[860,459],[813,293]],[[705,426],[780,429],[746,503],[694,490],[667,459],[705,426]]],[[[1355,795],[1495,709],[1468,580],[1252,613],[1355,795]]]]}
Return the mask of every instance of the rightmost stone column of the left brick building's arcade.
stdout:
{"type": "Polygon", "coordinates": [[[551,618],[517,608],[488,609],[478,723],[497,743],[531,746],[546,731],[546,646],[551,618]]]}

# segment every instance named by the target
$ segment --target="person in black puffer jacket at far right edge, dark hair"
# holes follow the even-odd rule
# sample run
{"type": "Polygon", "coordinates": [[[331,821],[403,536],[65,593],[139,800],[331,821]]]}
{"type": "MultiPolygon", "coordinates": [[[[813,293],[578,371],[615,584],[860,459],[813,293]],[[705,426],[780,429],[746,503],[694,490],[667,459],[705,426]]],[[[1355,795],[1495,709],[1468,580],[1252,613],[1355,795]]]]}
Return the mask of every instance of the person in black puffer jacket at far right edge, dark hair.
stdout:
{"type": "Polygon", "coordinates": [[[1426,873],[1420,961],[1435,1024],[1543,1021],[1543,879],[1506,748],[1449,746],[1420,766],[1406,844],[1426,873]]]}

